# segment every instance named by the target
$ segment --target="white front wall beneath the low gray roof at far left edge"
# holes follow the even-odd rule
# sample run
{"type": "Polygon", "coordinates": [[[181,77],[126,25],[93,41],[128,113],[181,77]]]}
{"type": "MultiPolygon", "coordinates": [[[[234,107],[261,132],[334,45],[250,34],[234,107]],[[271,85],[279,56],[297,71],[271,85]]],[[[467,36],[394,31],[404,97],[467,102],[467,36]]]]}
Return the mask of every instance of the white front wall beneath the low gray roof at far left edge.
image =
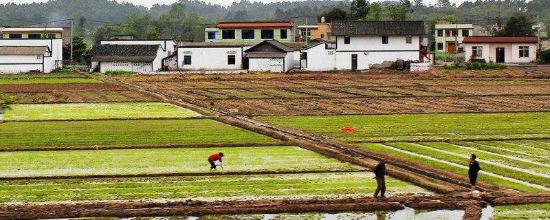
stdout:
{"type": "Polygon", "coordinates": [[[42,72],[43,55],[0,55],[1,73],[42,72]]]}

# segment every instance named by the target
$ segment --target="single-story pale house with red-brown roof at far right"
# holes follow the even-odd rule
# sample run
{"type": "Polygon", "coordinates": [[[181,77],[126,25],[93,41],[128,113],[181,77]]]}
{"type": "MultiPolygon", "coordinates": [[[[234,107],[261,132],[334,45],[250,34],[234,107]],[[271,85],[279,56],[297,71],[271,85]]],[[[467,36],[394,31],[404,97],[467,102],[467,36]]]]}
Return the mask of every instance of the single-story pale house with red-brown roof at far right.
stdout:
{"type": "Polygon", "coordinates": [[[531,63],[536,61],[536,36],[468,36],[464,39],[466,61],[531,63]]]}

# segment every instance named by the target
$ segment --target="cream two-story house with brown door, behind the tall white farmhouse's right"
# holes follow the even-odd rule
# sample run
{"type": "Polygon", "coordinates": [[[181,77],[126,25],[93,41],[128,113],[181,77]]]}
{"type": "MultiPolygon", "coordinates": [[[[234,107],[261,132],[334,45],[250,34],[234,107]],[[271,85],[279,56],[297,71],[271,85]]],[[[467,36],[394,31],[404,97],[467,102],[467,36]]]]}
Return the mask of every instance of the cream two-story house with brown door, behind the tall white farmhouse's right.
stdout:
{"type": "Polygon", "coordinates": [[[471,23],[452,23],[439,20],[435,24],[435,52],[454,54],[466,36],[474,35],[471,23]]]}

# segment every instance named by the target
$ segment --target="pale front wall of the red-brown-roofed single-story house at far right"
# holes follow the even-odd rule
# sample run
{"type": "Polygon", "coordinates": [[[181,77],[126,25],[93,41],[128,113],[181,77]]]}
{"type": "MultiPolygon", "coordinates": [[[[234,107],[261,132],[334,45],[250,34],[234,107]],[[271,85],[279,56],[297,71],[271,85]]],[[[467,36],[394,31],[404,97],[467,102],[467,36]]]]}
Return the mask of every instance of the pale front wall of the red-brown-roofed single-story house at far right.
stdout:
{"type": "Polygon", "coordinates": [[[496,48],[504,48],[504,63],[531,63],[536,61],[536,43],[465,43],[466,61],[470,61],[472,47],[482,47],[482,54],[478,58],[484,58],[487,63],[496,62],[496,48]],[[520,57],[520,46],[529,47],[529,57],[520,57]]]}

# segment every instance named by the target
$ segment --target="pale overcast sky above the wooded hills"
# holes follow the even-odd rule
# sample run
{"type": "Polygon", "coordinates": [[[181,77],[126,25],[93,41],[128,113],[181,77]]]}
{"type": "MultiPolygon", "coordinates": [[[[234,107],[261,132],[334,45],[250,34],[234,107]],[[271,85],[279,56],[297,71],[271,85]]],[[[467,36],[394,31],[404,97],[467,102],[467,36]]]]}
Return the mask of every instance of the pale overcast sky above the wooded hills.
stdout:
{"type": "MultiPolygon", "coordinates": [[[[0,0],[0,3],[10,3],[10,2],[14,2],[14,3],[32,3],[32,2],[43,2],[43,1],[47,1],[47,0],[0,0]]],[[[155,1],[151,1],[151,0],[116,0],[118,2],[129,2],[129,3],[134,3],[134,4],[140,4],[140,5],[145,5],[146,7],[151,7],[151,5],[155,4],[155,3],[159,3],[159,4],[171,4],[171,3],[174,3],[176,2],[177,0],[155,0],[155,1]]],[[[203,0],[203,1],[206,1],[206,2],[211,2],[211,3],[217,3],[219,5],[224,5],[224,6],[227,6],[227,5],[231,5],[231,3],[233,1],[240,1],[240,0],[203,0]]],[[[250,1],[254,1],[254,0],[250,0],[250,1]]],[[[279,0],[255,0],[255,1],[262,1],[264,3],[269,3],[269,2],[274,2],[274,1],[279,1],[279,0]]],[[[296,1],[296,0],[287,0],[287,1],[296,1]]],[[[299,1],[299,0],[297,0],[299,1]]],[[[371,2],[373,1],[380,1],[380,0],[371,0],[371,2]]],[[[459,5],[460,3],[462,3],[464,0],[450,0],[451,3],[456,3],[457,5],[459,5]]],[[[437,2],[437,0],[424,0],[424,3],[426,4],[432,4],[432,3],[435,3],[437,2]]]]}

